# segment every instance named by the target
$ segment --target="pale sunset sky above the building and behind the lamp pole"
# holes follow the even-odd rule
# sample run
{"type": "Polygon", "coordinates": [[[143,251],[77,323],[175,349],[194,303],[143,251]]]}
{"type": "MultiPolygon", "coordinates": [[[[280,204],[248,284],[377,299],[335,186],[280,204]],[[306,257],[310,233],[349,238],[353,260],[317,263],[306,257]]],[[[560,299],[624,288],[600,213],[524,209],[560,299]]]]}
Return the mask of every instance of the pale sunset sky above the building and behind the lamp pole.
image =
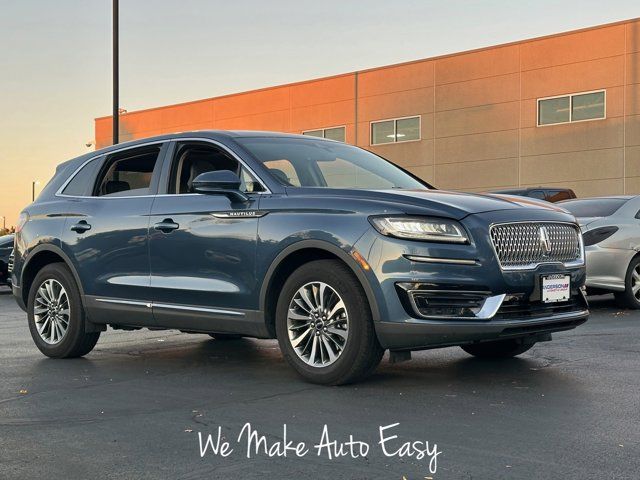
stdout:
{"type": "MultiPolygon", "coordinates": [[[[120,0],[128,111],[640,17],[638,0],[120,0]]],[[[111,1],[0,0],[0,227],[111,112],[111,1]]]]}

